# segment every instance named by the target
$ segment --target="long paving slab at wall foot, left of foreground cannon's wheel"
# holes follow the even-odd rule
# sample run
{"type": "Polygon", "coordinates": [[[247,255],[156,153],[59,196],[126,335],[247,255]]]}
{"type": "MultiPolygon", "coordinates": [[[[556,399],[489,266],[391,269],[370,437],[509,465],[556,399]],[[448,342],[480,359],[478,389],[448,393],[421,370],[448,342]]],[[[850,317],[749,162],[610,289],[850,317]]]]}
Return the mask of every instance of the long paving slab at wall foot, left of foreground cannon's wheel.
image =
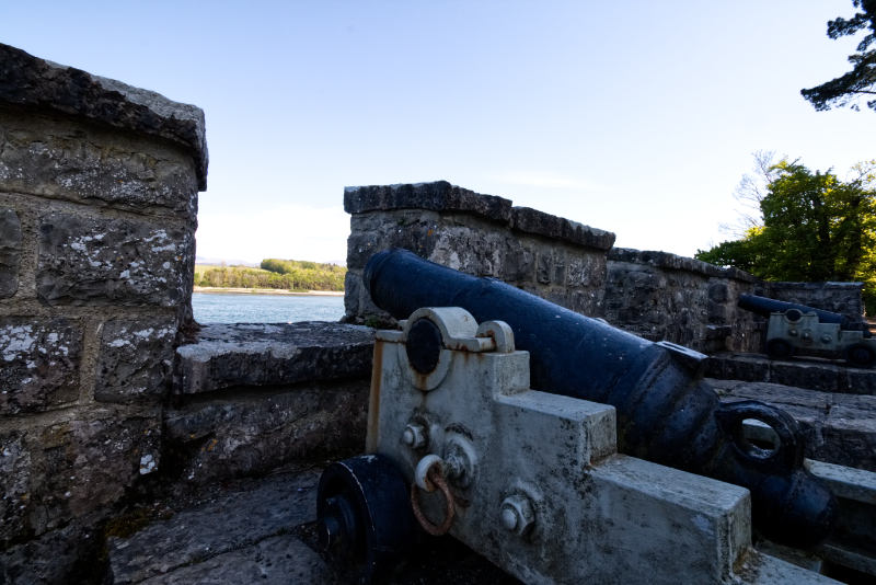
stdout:
{"type": "MultiPolygon", "coordinates": [[[[319,471],[276,477],[257,489],[228,494],[153,524],[126,540],[111,538],[107,548],[113,583],[127,585],[171,575],[186,565],[246,549],[312,521],[316,518],[318,483],[319,471]]],[[[311,566],[309,558],[306,563],[311,566]]]]}

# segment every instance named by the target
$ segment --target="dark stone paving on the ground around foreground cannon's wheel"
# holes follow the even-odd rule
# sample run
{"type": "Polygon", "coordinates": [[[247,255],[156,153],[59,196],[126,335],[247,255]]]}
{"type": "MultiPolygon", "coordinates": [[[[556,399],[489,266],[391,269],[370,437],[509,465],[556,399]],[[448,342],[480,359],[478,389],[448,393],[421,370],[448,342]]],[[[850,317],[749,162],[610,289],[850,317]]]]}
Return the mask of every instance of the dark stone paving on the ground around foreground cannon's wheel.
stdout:
{"type": "MultiPolygon", "coordinates": [[[[240,480],[155,503],[174,514],[108,539],[104,585],[348,583],[313,550],[321,472],[240,480]]],[[[450,537],[427,538],[389,585],[520,583],[450,537]]]]}

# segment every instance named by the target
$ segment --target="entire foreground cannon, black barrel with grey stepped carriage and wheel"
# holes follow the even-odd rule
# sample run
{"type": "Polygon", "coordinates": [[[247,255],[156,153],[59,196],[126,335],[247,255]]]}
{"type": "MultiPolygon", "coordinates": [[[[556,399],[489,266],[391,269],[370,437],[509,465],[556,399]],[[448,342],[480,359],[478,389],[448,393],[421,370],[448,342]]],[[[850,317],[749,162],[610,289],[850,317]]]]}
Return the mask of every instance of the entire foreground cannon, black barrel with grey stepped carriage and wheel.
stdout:
{"type": "Polygon", "coordinates": [[[752,524],[820,543],[837,502],[794,420],[721,404],[702,354],[403,250],[365,284],[400,330],[376,337],[368,455],[318,496],[321,547],[356,581],[447,532],[526,583],[831,582],[751,548],[752,524]]]}

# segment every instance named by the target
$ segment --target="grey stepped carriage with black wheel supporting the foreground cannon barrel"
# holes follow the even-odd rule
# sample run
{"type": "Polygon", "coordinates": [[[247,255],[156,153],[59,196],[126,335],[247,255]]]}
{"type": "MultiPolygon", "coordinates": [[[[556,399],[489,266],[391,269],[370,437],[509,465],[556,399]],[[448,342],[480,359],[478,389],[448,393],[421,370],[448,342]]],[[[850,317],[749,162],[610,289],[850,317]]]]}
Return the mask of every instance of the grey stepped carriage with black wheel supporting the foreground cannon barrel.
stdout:
{"type": "Polygon", "coordinates": [[[614,406],[533,390],[508,323],[424,307],[399,325],[374,335],[366,455],[320,479],[341,582],[450,535],[532,585],[835,583],[752,548],[748,490],[621,455],[614,406]]]}

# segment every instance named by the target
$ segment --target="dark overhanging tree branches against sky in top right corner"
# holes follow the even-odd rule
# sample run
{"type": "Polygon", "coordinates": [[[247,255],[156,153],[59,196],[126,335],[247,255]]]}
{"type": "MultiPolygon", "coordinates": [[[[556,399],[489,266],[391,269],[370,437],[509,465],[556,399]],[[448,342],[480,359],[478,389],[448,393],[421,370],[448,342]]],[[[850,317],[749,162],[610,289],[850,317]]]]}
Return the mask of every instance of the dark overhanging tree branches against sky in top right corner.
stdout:
{"type": "MultiPolygon", "coordinates": [[[[817,111],[830,110],[833,106],[851,105],[858,110],[857,100],[862,95],[876,95],[876,48],[871,48],[876,42],[876,0],[852,0],[855,8],[862,12],[855,13],[849,20],[839,18],[828,21],[828,36],[837,39],[841,36],[853,36],[862,30],[869,28],[856,53],[849,56],[852,70],[816,88],[800,90],[817,111]]],[[[876,111],[876,99],[867,102],[867,107],[876,111]]]]}

